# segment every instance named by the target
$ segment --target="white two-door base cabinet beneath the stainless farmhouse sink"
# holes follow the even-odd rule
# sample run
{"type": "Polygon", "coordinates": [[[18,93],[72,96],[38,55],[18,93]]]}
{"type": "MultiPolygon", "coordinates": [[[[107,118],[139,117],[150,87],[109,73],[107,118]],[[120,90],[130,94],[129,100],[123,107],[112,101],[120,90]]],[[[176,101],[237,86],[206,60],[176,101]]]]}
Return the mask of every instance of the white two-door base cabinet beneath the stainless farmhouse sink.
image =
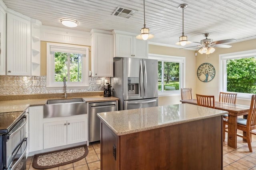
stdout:
{"type": "Polygon", "coordinates": [[[44,149],[87,141],[87,114],[57,118],[45,119],[44,149]]]}

